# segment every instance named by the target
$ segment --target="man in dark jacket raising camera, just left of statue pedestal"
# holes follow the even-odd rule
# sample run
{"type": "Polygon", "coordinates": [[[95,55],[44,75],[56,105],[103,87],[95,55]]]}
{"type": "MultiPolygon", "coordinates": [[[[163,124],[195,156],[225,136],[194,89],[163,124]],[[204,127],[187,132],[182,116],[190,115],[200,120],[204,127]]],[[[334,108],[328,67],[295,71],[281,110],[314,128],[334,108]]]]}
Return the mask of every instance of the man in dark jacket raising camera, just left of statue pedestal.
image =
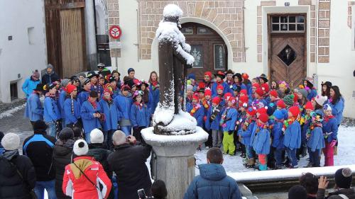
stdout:
{"type": "Polygon", "coordinates": [[[146,160],[151,155],[151,146],[136,143],[136,137],[128,136],[116,130],[112,136],[115,151],[107,161],[111,171],[116,173],[120,199],[138,199],[137,191],[144,189],[151,196],[151,177],[146,160]]]}

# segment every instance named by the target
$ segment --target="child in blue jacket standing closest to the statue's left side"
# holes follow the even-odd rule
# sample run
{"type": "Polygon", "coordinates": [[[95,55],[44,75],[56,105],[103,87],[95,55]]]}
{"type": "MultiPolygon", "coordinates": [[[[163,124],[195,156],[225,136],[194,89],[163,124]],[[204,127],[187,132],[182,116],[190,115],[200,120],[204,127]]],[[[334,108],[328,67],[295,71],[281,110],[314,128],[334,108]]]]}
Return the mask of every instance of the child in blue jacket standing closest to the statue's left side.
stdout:
{"type": "Polygon", "coordinates": [[[139,142],[142,142],[143,138],[141,130],[150,125],[151,115],[146,104],[142,99],[143,91],[135,91],[133,93],[133,104],[131,107],[131,123],[133,126],[133,136],[139,142]]]}

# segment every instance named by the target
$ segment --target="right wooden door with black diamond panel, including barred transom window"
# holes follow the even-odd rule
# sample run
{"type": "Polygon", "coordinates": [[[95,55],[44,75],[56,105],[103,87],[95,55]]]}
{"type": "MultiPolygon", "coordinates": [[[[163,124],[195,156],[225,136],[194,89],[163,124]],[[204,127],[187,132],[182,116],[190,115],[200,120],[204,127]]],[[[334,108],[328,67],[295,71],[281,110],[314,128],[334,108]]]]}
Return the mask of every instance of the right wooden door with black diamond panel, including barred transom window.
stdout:
{"type": "Polygon", "coordinates": [[[305,18],[271,16],[271,21],[269,75],[295,88],[307,74],[305,18]]]}

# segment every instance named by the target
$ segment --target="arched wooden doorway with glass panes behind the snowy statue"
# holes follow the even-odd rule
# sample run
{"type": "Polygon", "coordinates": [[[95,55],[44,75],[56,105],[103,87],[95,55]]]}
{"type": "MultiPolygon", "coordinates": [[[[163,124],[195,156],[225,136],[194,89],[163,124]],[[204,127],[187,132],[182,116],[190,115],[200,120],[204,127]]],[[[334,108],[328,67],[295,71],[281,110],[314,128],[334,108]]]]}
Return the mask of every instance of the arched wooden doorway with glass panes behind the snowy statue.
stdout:
{"type": "Polygon", "coordinates": [[[227,69],[226,44],[212,28],[200,23],[183,23],[181,32],[191,45],[190,54],[195,57],[194,66],[187,70],[188,74],[194,73],[197,81],[201,81],[204,72],[214,74],[227,69]]]}

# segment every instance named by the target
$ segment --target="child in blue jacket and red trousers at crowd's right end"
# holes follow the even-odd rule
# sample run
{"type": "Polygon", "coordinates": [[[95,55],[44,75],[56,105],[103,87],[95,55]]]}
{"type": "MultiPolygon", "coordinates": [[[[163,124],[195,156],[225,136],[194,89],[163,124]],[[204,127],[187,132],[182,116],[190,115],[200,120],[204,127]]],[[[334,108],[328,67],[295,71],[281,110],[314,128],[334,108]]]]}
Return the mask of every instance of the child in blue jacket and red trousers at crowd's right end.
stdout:
{"type": "Polygon", "coordinates": [[[337,144],[338,124],[337,118],[332,115],[332,106],[324,105],[323,135],[325,147],[324,166],[334,166],[334,146],[337,144]]]}

